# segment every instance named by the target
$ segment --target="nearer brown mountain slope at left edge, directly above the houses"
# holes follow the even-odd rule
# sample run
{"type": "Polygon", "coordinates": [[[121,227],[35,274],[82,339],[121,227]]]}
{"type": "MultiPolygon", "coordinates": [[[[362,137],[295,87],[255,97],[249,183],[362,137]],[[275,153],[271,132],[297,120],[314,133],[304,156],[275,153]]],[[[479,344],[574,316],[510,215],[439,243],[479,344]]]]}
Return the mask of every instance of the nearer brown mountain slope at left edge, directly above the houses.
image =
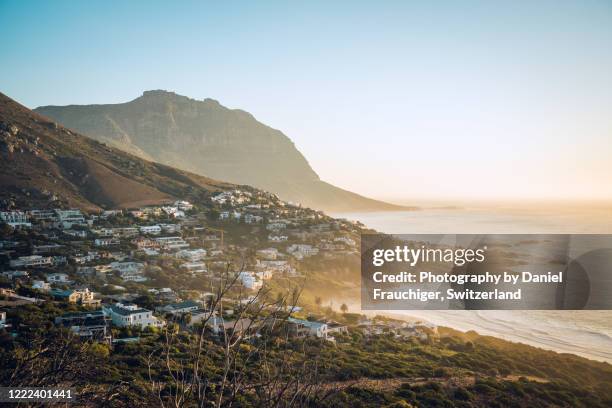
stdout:
{"type": "Polygon", "coordinates": [[[204,199],[232,185],[105,146],[0,93],[0,200],[83,209],[204,199]]]}

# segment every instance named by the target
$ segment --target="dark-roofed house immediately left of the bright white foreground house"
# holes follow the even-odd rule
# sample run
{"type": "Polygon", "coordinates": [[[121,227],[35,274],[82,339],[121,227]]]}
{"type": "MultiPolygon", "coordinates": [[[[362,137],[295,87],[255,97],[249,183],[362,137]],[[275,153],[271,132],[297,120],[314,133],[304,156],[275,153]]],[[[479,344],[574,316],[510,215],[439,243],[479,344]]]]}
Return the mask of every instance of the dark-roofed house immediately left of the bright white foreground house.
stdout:
{"type": "Polygon", "coordinates": [[[55,318],[55,324],[70,328],[81,340],[111,344],[110,318],[102,310],[66,313],[55,318]]]}

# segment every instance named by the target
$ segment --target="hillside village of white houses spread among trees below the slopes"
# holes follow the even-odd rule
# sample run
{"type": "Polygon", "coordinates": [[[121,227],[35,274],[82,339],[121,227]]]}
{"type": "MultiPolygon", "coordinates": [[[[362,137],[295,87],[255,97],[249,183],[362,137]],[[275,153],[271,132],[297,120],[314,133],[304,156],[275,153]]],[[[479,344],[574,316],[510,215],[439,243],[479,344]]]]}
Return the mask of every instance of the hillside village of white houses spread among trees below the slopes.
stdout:
{"type": "MultiPolygon", "coordinates": [[[[259,335],[245,318],[235,317],[234,309],[264,287],[280,292],[299,286],[306,277],[305,262],[359,255],[362,225],[273,194],[234,189],[212,195],[205,204],[200,208],[179,200],[99,213],[1,211],[0,324],[19,336],[19,326],[11,325],[12,312],[27,304],[57,302],[72,306],[52,316],[56,325],[109,346],[138,341],[140,334],[169,322],[178,322],[181,330],[204,323],[213,336],[241,330],[248,331],[242,335],[259,335]],[[228,276],[232,288],[223,311],[212,310],[228,276]]],[[[393,332],[426,341],[436,331],[424,323],[365,316],[338,322],[300,300],[288,307],[286,324],[298,337],[334,342],[334,335],[348,333],[350,326],[366,335],[393,332]]],[[[346,313],[345,305],[341,309],[346,313]]]]}

